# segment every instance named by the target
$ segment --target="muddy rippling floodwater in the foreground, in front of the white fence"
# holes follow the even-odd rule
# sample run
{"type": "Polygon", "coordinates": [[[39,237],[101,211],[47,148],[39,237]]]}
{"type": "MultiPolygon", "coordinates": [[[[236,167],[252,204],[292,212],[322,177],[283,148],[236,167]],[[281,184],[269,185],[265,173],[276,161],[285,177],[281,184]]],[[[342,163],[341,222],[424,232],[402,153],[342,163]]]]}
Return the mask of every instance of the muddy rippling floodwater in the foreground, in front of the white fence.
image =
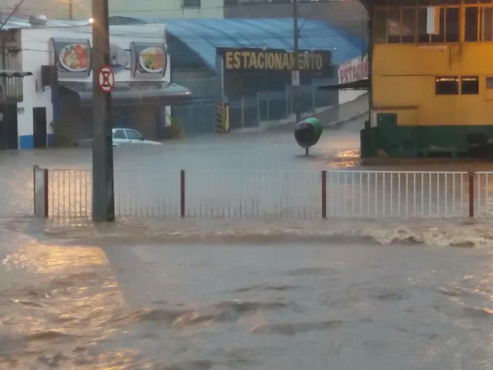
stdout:
{"type": "Polygon", "coordinates": [[[493,368],[487,241],[1,227],[1,369],[493,368]]]}

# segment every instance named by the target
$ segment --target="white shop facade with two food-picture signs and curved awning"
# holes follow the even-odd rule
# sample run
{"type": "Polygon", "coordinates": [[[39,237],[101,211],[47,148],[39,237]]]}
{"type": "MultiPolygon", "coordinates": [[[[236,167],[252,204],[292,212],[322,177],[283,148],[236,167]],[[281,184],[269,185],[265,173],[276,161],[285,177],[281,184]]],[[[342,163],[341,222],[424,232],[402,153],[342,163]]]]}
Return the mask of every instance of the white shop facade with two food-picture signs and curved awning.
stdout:
{"type": "MultiPolygon", "coordinates": [[[[17,79],[17,99],[0,97],[2,127],[8,128],[0,130],[0,143],[6,142],[7,149],[30,149],[92,137],[91,26],[53,21],[32,27],[24,22],[21,26],[22,18],[14,17],[0,32],[0,41],[12,40],[6,49],[9,68],[32,73],[17,79]]],[[[161,137],[169,126],[171,105],[192,101],[188,89],[169,82],[164,35],[164,24],[110,27],[112,125],[136,128],[150,139],[161,137]]]]}

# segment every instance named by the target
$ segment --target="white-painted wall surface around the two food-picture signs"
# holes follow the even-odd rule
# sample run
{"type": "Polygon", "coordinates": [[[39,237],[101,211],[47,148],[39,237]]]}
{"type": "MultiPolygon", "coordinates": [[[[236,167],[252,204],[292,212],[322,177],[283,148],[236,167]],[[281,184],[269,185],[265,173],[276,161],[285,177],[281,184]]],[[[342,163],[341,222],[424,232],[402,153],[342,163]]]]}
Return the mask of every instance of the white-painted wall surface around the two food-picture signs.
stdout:
{"type": "MultiPolygon", "coordinates": [[[[110,42],[128,49],[130,42],[164,42],[164,24],[134,25],[134,26],[111,26],[110,42]]],[[[50,50],[51,38],[73,38],[89,39],[92,43],[92,33],[90,27],[70,27],[70,28],[40,28],[22,30],[22,69],[30,71],[33,76],[24,78],[23,95],[24,101],[18,103],[17,107],[24,108],[24,113],[17,114],[18,135],[33,134],[33,115],[32,108],[46,107],[47,133],[52,133],[50,123],[53,120],[53,105],[51,102],[51,90],[49,87],[43,91],[41,88],[36,91],[37,84],[41,82],[41,66],[53,63],[53,56],[50,50]]],[[[170,80],[170,63],[168,63],[162,81],[170,80]]],[[[92,81],[92,71],[90,76],[83,78],[60,78],[60,81],[92,81]]],[[[131,70],[126,69],[116,74],[116,81],[142,80],[132,76],[131,70]]],[[[155,79],[154,79],[155,80],[155,79]]],[[[167,108],[166,112],[170,112],[167,108]]]]}

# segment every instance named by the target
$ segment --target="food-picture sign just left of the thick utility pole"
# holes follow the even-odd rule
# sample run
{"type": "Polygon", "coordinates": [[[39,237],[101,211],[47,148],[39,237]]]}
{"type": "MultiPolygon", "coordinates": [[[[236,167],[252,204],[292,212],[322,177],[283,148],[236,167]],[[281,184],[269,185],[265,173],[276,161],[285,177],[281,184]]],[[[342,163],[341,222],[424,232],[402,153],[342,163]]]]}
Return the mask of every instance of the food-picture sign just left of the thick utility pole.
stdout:
{"type": "Polygon", "coordinates": [[[59,77],[86,77],[91,69],[91,47],[87,39],[51,39],[59,77]]]}

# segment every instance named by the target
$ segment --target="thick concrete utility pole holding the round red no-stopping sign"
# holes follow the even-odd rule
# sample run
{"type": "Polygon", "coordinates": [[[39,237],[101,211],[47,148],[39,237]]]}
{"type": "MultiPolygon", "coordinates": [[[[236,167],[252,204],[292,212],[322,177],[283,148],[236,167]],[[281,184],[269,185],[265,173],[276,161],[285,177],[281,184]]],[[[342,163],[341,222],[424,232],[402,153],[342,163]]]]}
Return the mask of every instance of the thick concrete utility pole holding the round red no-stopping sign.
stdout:
{"type": "Polygon", "coordinates": [[[108,0],[92,0],[92,220],[115,219],[111,94],[99,86],[99,71],[109,65],[108,0]]]}

